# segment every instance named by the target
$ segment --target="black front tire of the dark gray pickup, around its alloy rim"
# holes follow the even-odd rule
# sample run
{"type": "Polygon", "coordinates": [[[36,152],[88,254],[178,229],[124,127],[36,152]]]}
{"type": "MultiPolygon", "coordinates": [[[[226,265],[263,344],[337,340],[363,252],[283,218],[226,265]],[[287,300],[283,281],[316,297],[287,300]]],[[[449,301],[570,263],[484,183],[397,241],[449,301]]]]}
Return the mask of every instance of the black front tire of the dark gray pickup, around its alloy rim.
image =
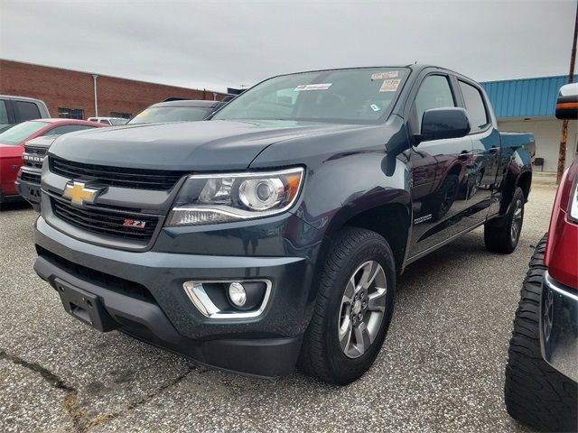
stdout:
{"type": "Polygon", "coordinates": [[[303,373],[324,382],[345,385],[366,373],[375,361],[387,334],[396,291],[394,254],[386,239],[370,230],[346,227],[341,230],[323,265],[312,320],[303,337],[298,366],[303,373]],[[346,356],[337,329],[341,300],[351,275],[361,263],[381,265],[387,281],[385,310],[377,336],[368,350],[357,358],[346,356]]]}

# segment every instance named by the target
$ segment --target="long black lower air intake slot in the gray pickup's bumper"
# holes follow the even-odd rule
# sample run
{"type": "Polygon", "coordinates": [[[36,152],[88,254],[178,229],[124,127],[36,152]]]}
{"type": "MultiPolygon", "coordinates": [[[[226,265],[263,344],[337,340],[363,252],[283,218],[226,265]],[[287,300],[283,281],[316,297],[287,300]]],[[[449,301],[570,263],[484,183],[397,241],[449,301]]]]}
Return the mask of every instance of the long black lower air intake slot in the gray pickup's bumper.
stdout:
{"type": "Polygon", "coordinates": [[[60,266],[64,271],[69,272],[76,278],[82,281],[88,281],[96,286],[107,290],[112,290],[122,295],[130,296],[131,298],[142,299],[149,302],[156,303],[151,292],[142,284],[135,281],[128,281],[124,278],[119,278],[114,275],[109,275],[105,272],[95,271],[86,266],[72,263],[69,260],[51,253],[40,245],[36,245],[36,253],[49,262],[60,266]]]}

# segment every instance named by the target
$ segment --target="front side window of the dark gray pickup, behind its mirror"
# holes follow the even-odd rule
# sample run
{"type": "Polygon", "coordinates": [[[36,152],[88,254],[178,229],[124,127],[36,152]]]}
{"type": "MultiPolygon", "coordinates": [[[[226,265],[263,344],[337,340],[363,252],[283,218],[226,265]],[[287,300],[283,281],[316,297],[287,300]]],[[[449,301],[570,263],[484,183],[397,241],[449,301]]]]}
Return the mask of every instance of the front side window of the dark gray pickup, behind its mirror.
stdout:
{"type": "Polygon", "coordinates": [[[430,75],[422,82],[410,114],[412,134],[420,134],[422,117],[430,108],[456,106],[448,78],[443,75],[430,75]]]}

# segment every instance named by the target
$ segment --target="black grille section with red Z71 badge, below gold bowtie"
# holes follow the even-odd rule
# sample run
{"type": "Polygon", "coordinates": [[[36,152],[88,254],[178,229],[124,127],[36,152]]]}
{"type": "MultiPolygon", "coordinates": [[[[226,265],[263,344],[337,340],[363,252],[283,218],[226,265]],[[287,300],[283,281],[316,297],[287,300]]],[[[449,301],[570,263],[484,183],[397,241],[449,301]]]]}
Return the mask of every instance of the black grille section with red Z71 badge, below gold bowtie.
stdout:
{"type": "Polygon", "coordinates": [[[51,198],[52,212],[72,226],[98,235],[148,242],[159,224],[159,216],[144,214],[136,210],[126,211],[97,205],[73,207],[70,202],[51,198]],[[128,221],[144,223],[143,228],[124,226],[128,221]]]}

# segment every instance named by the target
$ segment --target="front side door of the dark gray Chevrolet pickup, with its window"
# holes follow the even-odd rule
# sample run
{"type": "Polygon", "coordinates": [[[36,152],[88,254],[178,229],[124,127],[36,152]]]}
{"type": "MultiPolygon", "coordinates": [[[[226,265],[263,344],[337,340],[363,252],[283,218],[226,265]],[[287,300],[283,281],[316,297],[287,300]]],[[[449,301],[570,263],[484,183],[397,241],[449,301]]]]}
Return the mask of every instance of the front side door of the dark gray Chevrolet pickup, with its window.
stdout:
{"type": "MultiPolygon", "coordinates": [[[[412,137],[421,131],[425,110],[461,106],[455,86],[455,79],[446,72],[425,74],[415,96],[410,96],[408,129],[412,137]]],[[[414,223],[410,258],[470,227],[469,206],[460,192],[471,152],[470,136],[422,142],[410,149],[414,223]]]]}

